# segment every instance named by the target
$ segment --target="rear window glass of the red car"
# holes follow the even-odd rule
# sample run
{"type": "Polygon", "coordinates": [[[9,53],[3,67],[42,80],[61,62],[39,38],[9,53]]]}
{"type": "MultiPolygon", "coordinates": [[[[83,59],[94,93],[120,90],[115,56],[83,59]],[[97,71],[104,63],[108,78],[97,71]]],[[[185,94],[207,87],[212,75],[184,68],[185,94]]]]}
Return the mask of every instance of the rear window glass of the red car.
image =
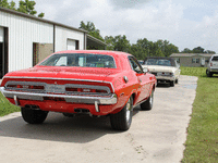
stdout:
{"type": "Polygon", "coordinates": [[[53,54],[38,65],[116,68],[112,57],[92,53],[53,54]]]}

